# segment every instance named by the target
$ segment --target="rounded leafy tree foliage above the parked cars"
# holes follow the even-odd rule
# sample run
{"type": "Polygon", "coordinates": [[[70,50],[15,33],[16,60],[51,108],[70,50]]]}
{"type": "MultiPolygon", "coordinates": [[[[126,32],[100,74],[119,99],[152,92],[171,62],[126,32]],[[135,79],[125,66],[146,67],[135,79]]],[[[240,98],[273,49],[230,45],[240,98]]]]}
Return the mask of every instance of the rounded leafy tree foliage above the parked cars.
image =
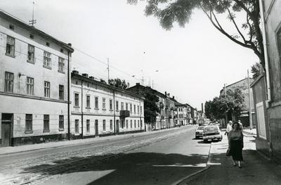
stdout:
{"type": "Polygon", "coordinates": [[[225,117],[225,113],[232,113],[238,117],[243,110],[246,110],[244,95],[240,89],[234,91],[228,89],[226,95],[223,93],[212,101],[206,101],[204,110],[210,120],[221,119],[225,117]]]}

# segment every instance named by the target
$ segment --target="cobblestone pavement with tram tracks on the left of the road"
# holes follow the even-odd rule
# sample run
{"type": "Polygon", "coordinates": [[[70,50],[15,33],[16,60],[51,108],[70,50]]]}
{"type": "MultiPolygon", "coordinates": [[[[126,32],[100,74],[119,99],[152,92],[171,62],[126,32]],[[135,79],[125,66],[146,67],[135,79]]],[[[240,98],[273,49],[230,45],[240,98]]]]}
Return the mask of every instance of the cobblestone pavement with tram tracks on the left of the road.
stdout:
{"type": "Polygon", "coordinates": [[[129,138],[86,143],[81,146],[49,148],[1,156],[0,184],[36,184],[77,172],[77,169],[87,171],[87,168],[93,165],[116,160],[125,153],[137,151],[138,148],[165,141],[194,129],[194,126],[189,125],[149,135],[136,134],[129,138]]]}

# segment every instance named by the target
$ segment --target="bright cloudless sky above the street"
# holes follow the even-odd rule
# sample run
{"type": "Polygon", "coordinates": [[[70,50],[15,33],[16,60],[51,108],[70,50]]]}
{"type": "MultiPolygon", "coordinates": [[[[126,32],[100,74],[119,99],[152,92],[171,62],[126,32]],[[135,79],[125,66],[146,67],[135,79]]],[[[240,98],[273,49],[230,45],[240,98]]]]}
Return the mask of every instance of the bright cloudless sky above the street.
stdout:
{"type": "MultiPolygon", "coordinates": [[[[145,1],[137,6],[126,0],[34,3],[34,26],[74,47],[72,70],[107,80],[108,58],[110,78],[126,79],[130,86],[144,79],[145,85],[198,109],[259,62],[253,51],[218,32],[200,10],[185,27],[164,30],[157,18],[144,15],[145,1]]],[[[32,19],[32,0],[0,1],[0,8],[25,22],[32,19]]],[[[242,18],[237,15],[238,22],[242,18]]],[[[220,21],[235,32],[229,20],[220,21]]]]}

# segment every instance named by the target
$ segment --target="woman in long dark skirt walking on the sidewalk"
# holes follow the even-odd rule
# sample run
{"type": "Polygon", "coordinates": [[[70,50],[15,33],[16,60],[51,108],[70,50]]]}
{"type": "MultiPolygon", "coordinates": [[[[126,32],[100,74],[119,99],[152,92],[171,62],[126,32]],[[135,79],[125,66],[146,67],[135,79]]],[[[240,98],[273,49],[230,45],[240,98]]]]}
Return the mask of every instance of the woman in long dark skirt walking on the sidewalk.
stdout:
{"type": "Polygon", "coordinates": [[[244,147],[243,133],[238,122],[234,122],[232,127],[233,129],[228,134],[229,153],[233,157],[233,166],[238,163],[238,167],[241,168],[242,148],[244,147]]]}

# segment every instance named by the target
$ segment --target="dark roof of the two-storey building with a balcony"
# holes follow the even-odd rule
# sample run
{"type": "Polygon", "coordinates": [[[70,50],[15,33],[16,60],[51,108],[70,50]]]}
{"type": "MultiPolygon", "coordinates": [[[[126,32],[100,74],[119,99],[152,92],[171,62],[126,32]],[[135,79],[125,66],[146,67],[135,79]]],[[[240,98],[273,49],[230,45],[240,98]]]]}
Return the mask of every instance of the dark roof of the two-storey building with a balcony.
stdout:
{"type": "Polygon", "coordinates": [[[124,89],[120,89],[120,88],[117,88],[117,87],[113,87],[113,86],[111,86],[111,85],[109,85],[109,84],[104,84],[103,82],[97,81],[97,80],[95,80],[95,79],[91,79],[91,78],[89,78],[89,77],[84,77],[84,76],[79,75],[79,74],[76,74],[76,73],[74,73],[74,72],[71,72],[71,77],[77,77],[78,79],[83,79],[83,80],[86,81],[86,82],[91,82],[91,83],[93,83],[93,84],[98,84],[98,85],[100,85],[100,86],[102,86],[102,87],[106,87],[107,89],[112,89],[112,90],[115,90],[115,91],[122,92],[122,93],[124,93],[124,94],[129,94],[129,95],[131,95],[131,96],[135,96],[135,97],[137,97],[137,98],[145,99],[143,96],[139,96],[138,94],[134,94],[134,93],[132,93],[131,91],[126,91],[126,90],[124,90],[124,89]]]}

